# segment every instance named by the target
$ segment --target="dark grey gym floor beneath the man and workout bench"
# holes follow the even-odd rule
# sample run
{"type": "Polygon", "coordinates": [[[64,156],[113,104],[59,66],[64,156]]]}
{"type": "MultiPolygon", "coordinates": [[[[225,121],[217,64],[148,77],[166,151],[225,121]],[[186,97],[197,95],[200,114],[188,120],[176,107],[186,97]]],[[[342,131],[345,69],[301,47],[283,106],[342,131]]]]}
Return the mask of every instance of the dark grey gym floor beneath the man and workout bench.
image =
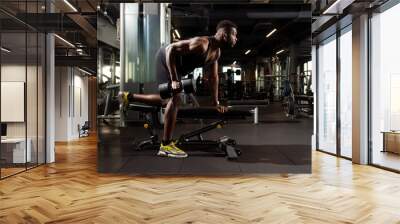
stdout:
{"type": "MultiPolygon", "coordinates": [[[[229,122],[222,129],[204,134],[205,139],[234,138],[242,155],[236,161],[210,153],[188,151],[189,157],[156,156],[157,149],[135,150],[135,143],[148,137],[141,123],[115,128],[99,125],[98,170],[132,175],[220,175],[245,173],[310,173],[312,118],[287,118],[280,103],[260,109],[259,124],[253,117],[229,122]]],[[[175,136],[199,124],[178,123],[175,136]]]]}

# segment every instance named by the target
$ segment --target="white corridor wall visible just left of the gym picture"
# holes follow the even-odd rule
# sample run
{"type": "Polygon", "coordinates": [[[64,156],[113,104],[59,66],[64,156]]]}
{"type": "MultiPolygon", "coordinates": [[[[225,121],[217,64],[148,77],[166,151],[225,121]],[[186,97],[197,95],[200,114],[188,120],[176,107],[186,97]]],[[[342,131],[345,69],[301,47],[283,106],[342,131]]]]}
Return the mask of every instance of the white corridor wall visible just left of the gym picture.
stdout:
{"type": "Polygon", "coordinates": [[[76,68],[56,67],[55,140],[79,138],[78,124],[88,120],[88,78],[76,68]]]}

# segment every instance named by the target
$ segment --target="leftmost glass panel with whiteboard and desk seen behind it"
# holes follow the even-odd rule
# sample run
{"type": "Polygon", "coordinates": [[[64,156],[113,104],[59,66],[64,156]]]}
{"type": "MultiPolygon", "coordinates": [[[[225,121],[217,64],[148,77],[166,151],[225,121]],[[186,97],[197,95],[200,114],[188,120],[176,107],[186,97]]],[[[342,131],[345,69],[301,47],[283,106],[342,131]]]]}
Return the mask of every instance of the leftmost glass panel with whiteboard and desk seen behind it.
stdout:
{"type": "Polygon", "coordinates": [[[26,40],[25,32],[1,34],[2,177],[25,170],[31,159],[26,150],[26,40]]]}

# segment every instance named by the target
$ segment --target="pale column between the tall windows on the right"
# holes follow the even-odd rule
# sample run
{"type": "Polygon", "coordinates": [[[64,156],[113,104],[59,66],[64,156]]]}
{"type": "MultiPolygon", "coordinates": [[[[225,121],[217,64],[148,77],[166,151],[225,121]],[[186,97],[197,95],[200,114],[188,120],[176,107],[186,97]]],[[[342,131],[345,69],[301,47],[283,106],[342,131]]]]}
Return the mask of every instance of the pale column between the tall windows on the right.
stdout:
{"type": "Polygon", "coordinates": [[[353,19],[353,162],[368,163],[368,15],[353,19]]]}

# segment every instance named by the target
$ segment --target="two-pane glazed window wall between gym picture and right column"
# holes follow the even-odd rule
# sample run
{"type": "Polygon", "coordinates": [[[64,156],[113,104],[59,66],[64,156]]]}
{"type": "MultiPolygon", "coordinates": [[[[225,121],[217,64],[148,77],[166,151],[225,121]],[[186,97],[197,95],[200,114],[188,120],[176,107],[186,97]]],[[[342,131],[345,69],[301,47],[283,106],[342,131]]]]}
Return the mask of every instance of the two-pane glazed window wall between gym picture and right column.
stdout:
{"type": "Polygon", "coordinates": [[[317,149],[352,157],[351,24],[317,48],[317,149]]]}

